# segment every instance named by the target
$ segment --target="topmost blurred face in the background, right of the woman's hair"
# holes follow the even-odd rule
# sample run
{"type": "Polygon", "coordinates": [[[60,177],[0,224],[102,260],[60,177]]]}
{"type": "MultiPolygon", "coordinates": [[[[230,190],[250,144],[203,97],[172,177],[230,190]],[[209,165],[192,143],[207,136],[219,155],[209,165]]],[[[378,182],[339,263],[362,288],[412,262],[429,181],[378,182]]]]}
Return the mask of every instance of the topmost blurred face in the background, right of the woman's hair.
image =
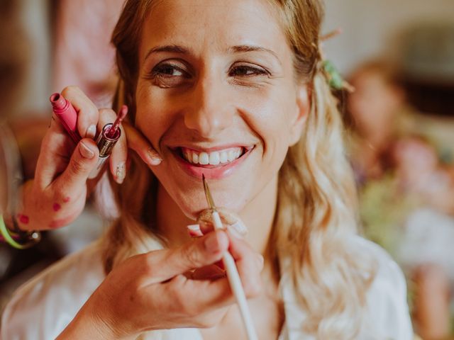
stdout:
{"type": "Polygon", "coordinates": [[[387,135],[394,125],[402,93],[396,86],[387,84],[382,75],[365,71],[353,79],[355,92],[348,97],[348,108],[360,134],[387,135]]]}

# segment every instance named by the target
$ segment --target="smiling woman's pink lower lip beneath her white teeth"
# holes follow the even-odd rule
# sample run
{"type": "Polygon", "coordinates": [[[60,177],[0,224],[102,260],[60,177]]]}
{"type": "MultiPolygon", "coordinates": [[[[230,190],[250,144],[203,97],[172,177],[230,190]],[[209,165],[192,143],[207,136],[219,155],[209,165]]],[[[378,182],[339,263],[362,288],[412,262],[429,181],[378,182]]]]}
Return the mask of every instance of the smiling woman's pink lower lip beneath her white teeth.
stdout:
{"type": "Polygon", "coordinates": [[[232,162],[213,164],[192,164],[184,159],[182,156],[182,149],[171,149],[172,154],[177,159],[179,166],[187,172],[190,176],[201,179],[202,174],[206,179],[223,179],[233,173],[235,169],[242,164],[249,154],[253,151],[254,147],[243,148],[243,154],[232,162]]]}

